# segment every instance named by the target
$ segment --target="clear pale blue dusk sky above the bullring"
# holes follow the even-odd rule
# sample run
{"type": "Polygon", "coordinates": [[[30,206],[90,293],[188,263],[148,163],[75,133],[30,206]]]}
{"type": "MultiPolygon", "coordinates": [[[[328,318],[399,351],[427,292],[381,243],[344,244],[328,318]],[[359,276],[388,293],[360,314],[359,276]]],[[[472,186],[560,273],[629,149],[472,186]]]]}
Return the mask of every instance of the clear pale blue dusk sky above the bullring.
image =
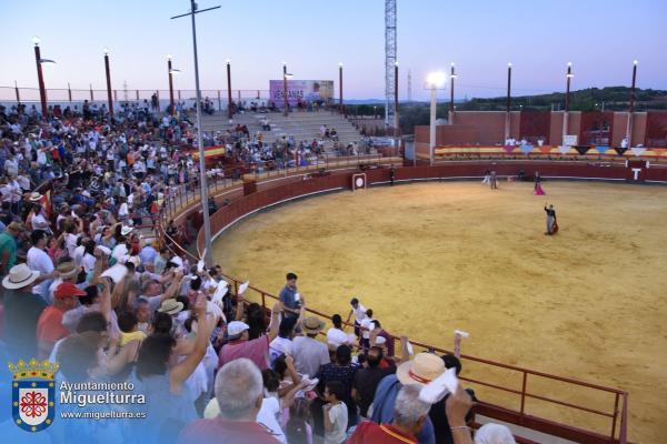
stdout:
{"type": "MultiPolygon", "coordinates": [[[[345,64],[346,99],[384,97],[382,0],[201,0],[198,16],[202,89],[267,90],[282,61],[296,79],[336,80],[345,64]]],[[[30,39],[41,39],[47,88],[104,88],[102,48],[111,57],[113,89],[168,89],[166,54],[182,70],[176,89],[193,89],[187,0],[0,0],[0,87],[37,87],[30,39]]],[[[502,95],[511,61],[516,95],[563,91],[573,62],[573,89],[629,84],[639,61],[639,88],[667,89],[665,0],[398,0],[399,99],[426,99],[432,70],[456,62],[456,98],[502,95]]],[[[448,95],[448,92],[442,92],[448,95]]]]}

